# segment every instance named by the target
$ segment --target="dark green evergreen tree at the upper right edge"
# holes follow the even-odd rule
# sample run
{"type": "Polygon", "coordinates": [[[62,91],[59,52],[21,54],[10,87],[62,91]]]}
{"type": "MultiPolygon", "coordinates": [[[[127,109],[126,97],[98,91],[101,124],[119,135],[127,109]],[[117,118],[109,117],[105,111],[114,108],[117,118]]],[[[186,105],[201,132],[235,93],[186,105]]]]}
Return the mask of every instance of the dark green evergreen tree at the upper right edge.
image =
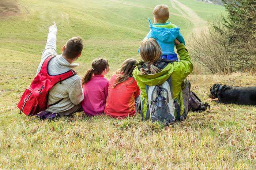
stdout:
{"type": "Polygon", "coordinates": [[[227,17],[222,18],[226,34],[223,46],[232,54],[234,70],[256,69],[256,0],[222,0],[227,17]]]}

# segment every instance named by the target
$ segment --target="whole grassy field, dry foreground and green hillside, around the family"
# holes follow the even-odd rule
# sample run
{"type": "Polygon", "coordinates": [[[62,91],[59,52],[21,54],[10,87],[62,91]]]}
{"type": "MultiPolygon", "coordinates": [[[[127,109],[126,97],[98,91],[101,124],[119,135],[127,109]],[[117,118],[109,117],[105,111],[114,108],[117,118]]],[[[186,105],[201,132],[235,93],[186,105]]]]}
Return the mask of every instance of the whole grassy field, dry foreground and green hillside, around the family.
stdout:
{"type": "MultiPolygon", "coordinates": [[[[9,1],[10,2],[10,1],[9,1]]],[[[18,114],[20,95],[35,76],[55,20],[57,50],[80,35],[85,41],[80,66],[83,75],[98,56],[110,61],[111,74],[125,58],[139,59],[137,48],[147,34],[147,17],[157,4],[170,7],[170,20],[185,38],[196,25],[182,16],[179,5],[167,0],[19,0],[20,14],[0,18],[0,169],[223,169],[256,168],[256,107],[222,105],[208,98],[214,83],[253,86],[252,73],[192,74],[192,90],[211,109],[189,113],[184,122],[164,127],[140,116],[116,120],[106,116],[40,121],[18,114]]],[[[180,0],[202,20],[223,7],[180,0]]],[[[184,11],[183,11],[184,12],[184,11]]],[[[1,15],[0,15],[1,16],[1,15]]]]}

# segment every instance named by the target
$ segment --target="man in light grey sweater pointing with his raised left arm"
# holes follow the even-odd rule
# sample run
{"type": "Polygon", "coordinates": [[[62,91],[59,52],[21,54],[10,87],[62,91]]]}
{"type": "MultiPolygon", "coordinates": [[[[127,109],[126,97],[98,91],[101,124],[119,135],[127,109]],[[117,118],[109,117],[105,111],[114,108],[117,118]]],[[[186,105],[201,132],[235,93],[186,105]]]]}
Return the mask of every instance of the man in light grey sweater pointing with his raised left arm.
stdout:
{"type": "MultiPolygon", "coordinates": [[[[57,26],[49,27],[48,38],[45,49],[42,53],[41,62],[37,69],[37,74],[40,72],[42,64],[49,56],[56,56],[49,61],[48,74],[59,75],[68,72],[70,69],[77,67],[79,64],[74,61],[81,55],[83,50],[83,41],[80,37],[72,37],[65,46],[63,53],[58,55],[56,52],[57,26]]],[[[79,75],[74,75],[66,80],[54,85],[49,91],[48,105],[46,110],[37,114],[41,118],[54,118],[59,116],[68,116],[76,112],[82,111],[80,103],[83,101],[84,95],[82,90],[82,79],[79,75]]]]}

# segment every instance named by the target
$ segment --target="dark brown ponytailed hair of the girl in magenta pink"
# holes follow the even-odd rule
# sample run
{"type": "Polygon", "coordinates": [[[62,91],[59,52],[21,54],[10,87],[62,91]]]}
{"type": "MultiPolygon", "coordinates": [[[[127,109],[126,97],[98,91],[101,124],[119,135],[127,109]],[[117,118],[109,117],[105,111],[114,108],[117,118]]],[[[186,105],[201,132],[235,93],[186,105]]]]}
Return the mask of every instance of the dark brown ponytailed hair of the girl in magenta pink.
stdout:
{"type": "Polygon", "coordinates": [[[91,68],[88,69],[82,79],[82,84],[88,83],[94,75],[101,74],[106,68],[109,68],[109,63],[106,58],[95,58],[91,63],[91,68]]]}

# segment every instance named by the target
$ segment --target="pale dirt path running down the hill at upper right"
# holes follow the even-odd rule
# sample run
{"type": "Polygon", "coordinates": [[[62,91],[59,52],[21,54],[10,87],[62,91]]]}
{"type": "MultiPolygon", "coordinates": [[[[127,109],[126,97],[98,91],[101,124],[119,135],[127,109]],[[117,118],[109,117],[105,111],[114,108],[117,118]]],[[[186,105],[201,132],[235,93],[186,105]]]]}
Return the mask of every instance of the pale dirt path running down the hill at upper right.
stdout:
{"type": "Polygon", "coordinates": [[[182,4],[178,0],[170,0],[170,2],[172,4],[172,7],[176,9],[181,14],[181,16],[193,22],[194,28],[192,30],[192,34],[197,35],[207,29],[207,22],[200,18],[200,16],[198,16],[196,12],[193,11],[191,8],[182,4]]]}

